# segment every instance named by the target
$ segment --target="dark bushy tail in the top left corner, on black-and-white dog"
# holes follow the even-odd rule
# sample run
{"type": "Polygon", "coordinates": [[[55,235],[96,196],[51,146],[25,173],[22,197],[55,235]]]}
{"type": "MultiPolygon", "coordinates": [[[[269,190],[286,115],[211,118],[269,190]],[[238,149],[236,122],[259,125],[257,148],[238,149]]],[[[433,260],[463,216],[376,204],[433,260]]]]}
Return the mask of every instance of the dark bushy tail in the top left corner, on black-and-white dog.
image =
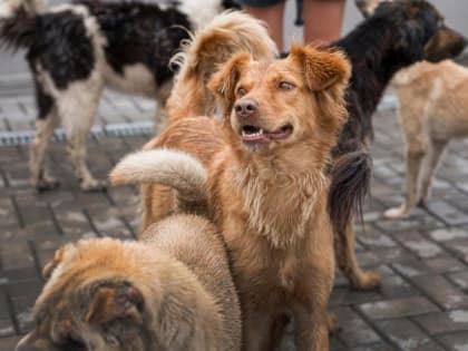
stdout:
{"type": "Polygon", "coordinates": [[[45,9],[41,0],[2,0],[0,2],[0,46],[18,50],[36,39],[37,14],[45,9]]]}

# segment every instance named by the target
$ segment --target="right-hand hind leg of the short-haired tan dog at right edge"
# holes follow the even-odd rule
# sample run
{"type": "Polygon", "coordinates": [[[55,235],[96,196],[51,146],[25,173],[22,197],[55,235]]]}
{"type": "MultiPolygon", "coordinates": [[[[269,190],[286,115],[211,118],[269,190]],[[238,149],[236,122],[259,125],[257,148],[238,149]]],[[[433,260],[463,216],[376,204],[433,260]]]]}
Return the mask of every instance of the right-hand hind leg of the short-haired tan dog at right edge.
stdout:
{"type": "Polygon", "coordinates": [[[422,162],[422,167],[419,176],[419,193],[418,193],[418,205],[426,205],[426,202],[429,197],[430,184],[432,181],[432,175],[439,164],[440,157],[446,149],[448,140],[431,140],[429,144],[427,156],[422,162]]]}

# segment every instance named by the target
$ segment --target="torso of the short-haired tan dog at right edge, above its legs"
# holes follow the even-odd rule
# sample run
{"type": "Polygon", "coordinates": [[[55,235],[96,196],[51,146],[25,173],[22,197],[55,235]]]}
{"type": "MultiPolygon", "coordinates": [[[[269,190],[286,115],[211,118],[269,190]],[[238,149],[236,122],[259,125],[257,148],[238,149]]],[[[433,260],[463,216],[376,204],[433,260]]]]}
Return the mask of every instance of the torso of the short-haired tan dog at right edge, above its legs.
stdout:
{"type": "Polygon", "coordinates": [[[467,68],[450,60],[423,61],[398,72],[392,84],[407,133],[443,140],[468,135],[467,68]]]}

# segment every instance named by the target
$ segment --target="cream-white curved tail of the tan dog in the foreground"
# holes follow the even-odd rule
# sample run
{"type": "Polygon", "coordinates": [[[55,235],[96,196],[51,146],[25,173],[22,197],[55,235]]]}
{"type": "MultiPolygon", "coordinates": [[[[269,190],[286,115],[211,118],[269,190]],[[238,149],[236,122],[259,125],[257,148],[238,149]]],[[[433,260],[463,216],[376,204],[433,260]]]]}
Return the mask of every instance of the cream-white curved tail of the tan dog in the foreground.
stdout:
{"type": "Polygon", "coordinates": [[[179,204],[205,203],[206,168],[178,150],[152,149],[130,154],[110,172],[114,185],[160,184],[177,191],[179,204]]]}

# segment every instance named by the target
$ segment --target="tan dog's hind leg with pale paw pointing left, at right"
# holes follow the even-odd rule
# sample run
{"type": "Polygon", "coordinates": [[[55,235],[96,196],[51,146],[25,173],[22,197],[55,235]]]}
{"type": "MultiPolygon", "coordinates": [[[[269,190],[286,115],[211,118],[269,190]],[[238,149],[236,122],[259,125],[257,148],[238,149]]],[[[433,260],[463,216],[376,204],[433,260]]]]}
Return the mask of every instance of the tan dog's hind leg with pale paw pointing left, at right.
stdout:
{"type": "Polygon", "coordinates": [[[419,143],[410,143],[407,147],[407,176],[404,202],[399,207],[386,211],[387,218],[401,218],[409,214],[418,202],[418,178],[421,170],[422,158],[425,157],[423,146],[419,143]]]}

